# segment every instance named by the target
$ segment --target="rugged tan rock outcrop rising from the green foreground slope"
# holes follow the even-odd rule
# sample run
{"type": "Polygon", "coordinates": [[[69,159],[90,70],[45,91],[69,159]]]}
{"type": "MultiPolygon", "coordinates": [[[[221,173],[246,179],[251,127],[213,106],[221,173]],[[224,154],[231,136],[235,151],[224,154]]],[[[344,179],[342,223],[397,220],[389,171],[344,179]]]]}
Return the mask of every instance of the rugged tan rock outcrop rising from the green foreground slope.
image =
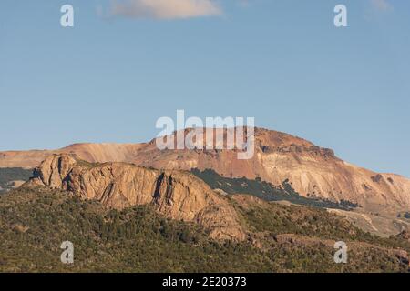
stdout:
{"type": "Polygon", "coordinates": [[[152,204],[163,216],[205,226],[213,238],[245,239],[226,197],[187,172],[125,163],[92,164],[66,154],[48,156],[29,184],[67,190],[118,209],[152,204]]]}

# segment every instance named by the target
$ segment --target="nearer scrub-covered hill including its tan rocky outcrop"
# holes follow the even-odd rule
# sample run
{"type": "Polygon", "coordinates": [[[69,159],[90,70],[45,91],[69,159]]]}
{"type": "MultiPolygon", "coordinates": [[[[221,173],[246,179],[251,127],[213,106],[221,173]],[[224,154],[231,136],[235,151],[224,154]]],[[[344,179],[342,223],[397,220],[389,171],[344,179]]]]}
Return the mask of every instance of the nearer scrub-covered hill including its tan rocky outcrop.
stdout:
{"type": "Polygon", "coordinates": [[[189,173],[173,172],[175,189],[159,190],[159,199],[155,191],[154,196],[143,189],[131,195],[121,193],[120,186],[112,190],[111,184],[108,191],[93,192],[108,179],[137,188],[148,181],[147,188],[165,186],[159,176],[138,166],[50,157],[29,183],[0,196],[0,272],[408,272],[405,233],[381,238],[323,209],[212,193],[189,173]],[[190,182],[184,189],[183,180],[190,182]],[[215,228],[212,219],[170,219],[173,209],[187,218],[197,216],[195,209],[186,211],[190,196],[201,199],[198,189],[210,196],[203,209],[220,214],[218,224],[234,221],[246,239],[215,237],[220,226],[215,228]],[[169,192],[174,203],[164,208],[169,192]],[[187,204],[179,204],[181,195],[188,195],[187,204]],[[60,246],[67,240],[75,247],[73,265],[60,261],[60,246]],[[340,240],[348,246],[347,264],[333,261],[334,243],[340,240]]]}

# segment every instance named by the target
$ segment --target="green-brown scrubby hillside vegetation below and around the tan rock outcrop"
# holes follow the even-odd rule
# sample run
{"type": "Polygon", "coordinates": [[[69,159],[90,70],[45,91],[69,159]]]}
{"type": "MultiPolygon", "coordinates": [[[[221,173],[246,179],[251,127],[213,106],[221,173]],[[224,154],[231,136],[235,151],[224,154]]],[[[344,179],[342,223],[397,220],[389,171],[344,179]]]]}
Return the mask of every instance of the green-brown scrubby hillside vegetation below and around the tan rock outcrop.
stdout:
{"type": "Polygon", "coordinates": [[[249,229],[246,242],[215,241],[202,227],[159,216],[151,206],[122,211],[45,187],[0,196],[2,272],[406,272],[403,239],[365,234],[338,216],[231,196],[249,229]],[[289,234],[292,234],[290,236],[289,234]],[[348,264],[333,262],[345,239],[348,264]],[[60,262],[63,241],[75,263],[60,262]]]}

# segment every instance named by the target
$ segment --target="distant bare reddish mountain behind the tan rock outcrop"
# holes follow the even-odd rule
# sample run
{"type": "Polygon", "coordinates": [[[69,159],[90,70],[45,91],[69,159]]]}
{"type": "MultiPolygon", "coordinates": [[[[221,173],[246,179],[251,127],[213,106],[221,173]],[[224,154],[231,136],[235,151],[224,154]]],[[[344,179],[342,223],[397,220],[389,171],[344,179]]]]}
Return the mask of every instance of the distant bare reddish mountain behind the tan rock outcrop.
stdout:
{"type": "MultiPolygon", "coordinates": [[[[302,196],[349,201],[369,211],[410,207],[410,180],[351,165],[330,149],[302,138],[256,128],[255,155],[239,160],[234,150],[159,150],[145,144],[77,144],[55,151],[0,153],[0,167],[38,166],[46,156],[71,153],[88,162],[128,162],[138,166],[199,170],[213,169],[220,176],[261,178],[275,186],[289,181],[302,196]]],[[[392,210],[393,211],[393,210],[392,210]]],[[[395,210],[394,210],[395,211],[395,210]]]]}

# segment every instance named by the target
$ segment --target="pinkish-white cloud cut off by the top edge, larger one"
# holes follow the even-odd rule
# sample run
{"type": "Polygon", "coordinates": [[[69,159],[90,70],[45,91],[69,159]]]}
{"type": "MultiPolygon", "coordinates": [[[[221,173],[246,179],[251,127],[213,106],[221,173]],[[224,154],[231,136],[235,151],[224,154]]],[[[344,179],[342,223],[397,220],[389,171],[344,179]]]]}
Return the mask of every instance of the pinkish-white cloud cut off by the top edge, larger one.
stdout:
{"type": "Polygon", "coordinates": [[[123,0],[111,7],[113,15],[133,18],[183,19],[221,15],[212,0],[123,0]]]}

